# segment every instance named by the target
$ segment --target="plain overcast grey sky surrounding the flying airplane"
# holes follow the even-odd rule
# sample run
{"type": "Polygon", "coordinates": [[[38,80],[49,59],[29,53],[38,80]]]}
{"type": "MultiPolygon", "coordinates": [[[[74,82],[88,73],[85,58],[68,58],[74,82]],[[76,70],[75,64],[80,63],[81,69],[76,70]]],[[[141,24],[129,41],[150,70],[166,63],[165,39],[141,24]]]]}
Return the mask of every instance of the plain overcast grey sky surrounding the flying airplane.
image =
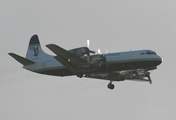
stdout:
{"type": "Polygon", "coordinates": [[[1,120],[173,120],[176,119],[175,0],[1,0],[1,120]],[[86,46],[105,52],[151,49],[164,62],[153,84],[52,77],[22,69],[7,55],[25,56],[38,34],[45,45],[86,46]]]}

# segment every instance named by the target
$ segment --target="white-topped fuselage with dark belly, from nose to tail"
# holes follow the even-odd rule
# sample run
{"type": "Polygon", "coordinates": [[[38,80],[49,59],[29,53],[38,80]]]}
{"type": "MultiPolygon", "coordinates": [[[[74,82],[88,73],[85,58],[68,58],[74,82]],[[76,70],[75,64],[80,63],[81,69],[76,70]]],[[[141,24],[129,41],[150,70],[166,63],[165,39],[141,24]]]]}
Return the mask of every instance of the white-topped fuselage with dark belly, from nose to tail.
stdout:
{"type": "MultiPolygon", "coordinates": [[[[92,55],[96,56],[96,55],[92,55]]],[[[108,71],[121,71],[121,70],[131,70],[140,68],[151,68],[156,67],[161,64],[162,59],[155,52],[151,50],[138,50],[138,51],[128,51],[128,52],[117,52],[103,54],[109,67],[94,67],[90,66],[88,68],[82,68],[82,73],[98,73],[98,72],[108,72],[108,71]]],[[[83,59],[86,59],[84,56],[83,59]]],[[[91,58],[91,56],[90,56],[91,58]]],[[[69,76],[74,75],[66,67],[64,67],[60,62],[58,62],[54,56],[48,57],[43,61],[37,61],[36,63],[24,66],[33,72],[54,75],[54,76],[69,76]]]]}

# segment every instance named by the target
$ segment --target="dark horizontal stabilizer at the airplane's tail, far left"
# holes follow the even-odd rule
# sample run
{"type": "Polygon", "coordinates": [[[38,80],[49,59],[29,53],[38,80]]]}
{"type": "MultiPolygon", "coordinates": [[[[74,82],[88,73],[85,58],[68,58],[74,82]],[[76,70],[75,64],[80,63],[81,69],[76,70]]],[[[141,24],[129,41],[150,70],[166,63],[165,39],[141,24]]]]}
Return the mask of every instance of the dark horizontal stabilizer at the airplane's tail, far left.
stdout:
{"type": "Polygon", "coordinates": [[[14,59],[16,59],[18,62],[20,62],[23,65],[31,65],[34,64],[35,62],[28,60],[26,58],[23,58],[15,53],[8,53],[10,56],[12,56],[14,59]]]}

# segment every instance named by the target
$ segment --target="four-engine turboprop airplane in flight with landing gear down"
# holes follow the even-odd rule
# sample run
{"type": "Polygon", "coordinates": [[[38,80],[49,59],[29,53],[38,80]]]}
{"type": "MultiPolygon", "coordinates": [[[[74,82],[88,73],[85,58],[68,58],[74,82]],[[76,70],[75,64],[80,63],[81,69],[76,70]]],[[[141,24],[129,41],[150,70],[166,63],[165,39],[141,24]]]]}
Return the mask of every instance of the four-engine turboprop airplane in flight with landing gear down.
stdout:
{"type": "Polygon", "coordinates": [[[55,44],[46,45],[56,55],[46,54],[37,35],[30,39],[26,58],[9,53],[23,68],[46,75],[87,77],[110,81],[107,87],[114,89],[114,81],[135,80],[152,83],[150,70],[157,69],[162,59],[152,50],[138,50],[95,54],[88,47],[65,50],[55,44]]]}

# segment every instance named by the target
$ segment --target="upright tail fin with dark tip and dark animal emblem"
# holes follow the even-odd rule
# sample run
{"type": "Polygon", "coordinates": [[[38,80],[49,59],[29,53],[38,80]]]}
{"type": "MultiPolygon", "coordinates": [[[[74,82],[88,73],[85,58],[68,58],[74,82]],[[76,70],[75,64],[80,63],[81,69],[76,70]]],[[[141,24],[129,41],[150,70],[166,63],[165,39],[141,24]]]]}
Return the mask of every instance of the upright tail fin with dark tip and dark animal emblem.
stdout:
{"type": "Polygon", "coordinates": [[[31,61],[36,61],[46,57],[48,55],[42,50],[38,36],[33,35],[29,42],[26,58],[31,61]]]}

